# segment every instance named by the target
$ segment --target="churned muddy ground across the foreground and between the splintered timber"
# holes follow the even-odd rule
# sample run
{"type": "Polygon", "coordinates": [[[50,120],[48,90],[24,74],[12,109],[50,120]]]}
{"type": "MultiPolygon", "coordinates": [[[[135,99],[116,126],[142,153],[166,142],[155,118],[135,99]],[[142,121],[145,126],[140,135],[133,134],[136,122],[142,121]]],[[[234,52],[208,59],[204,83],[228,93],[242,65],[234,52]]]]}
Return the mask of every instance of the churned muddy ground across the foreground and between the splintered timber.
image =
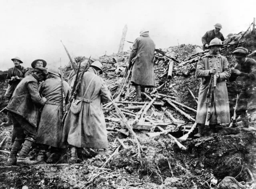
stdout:
{"type": "MultiPolygon", "coordinates": [[[[180,45],[170,47],[167,52],[174,54],[180,61],[185,61],[188,54],[193,53],[197,46],[180,45]]],[[[230,51],[225,52],[228,60],[232,62],[234,57],[230,51]]],[[[159,57],[159,55],[157,55],[159,57]]],[[[121,77],[117,77],[115,69],[111,69],[118,62],[126,62],[128,53],[113,54],[101,57],[101,61],[109,67],[105,67],[103,79],[107,82],[110,89],[118,86],[121,77]]],[[[167,61],[161,58],[161,62],[156,68],[166,68],[167,61]]],[[[115,67],[115,66],[114,66],[115,67]]],[[[194,75],[196,63],[176,68],[174,65],[173,76],[171,78],[159,78],[161,71],[157,75],[158,86],[166,82],[165,88],[159,93],[178,97],[177,101],[196,109],[196,101],[191,97],[187,87],[198,96],[200,79],[194,75]],[[182,74],[183,70],[189,70],[189,76],[182,74]]],[[[161,70],[161,69],[160,69],[161,70]]],[[[67,68],[65,76],[70,71],[67,68]]],[[[0,109],[7,105],[3,95],[7,84],[0,82],[0,109]]],[[[113,93],[116,88],[113,89],[113,93]]],[[[132,101],[132,99],[130,99],[132,101]]],[[[167,104],[164,107],[168,107],[167,104]]],[[[183,115],[174,109],[169,108],[173,116],[185,121],[185,125],[191,125],[183,115]]],[[[183,109],[184,110],[184,109],[183,109]]],[[[155,106],[158,113],[157,119],[161,117],[161,107],[155,106]]],[[[196,113],[188,113],[195,117],[196,113]]],[[[3,111],[1,120],[6,121],[6,113],[3,111]]],[[[109,117],[109,112],[105,113],[109,117]]],[[[131,117],[127,117],[131,119],[131,117]]],[[[163,121],[169,122],[170,119],[165,115],[163,121]]],[[[107,127],[123,128],[120,122],[107,121],[107,127]]],[[[81,155],[82,162],[71,165],[68,163],[70,152],[63,154],[56,164],[36,164],[31,166],[11,166],[6,167],[4,163],[8,157],[11,143],[12,126],[0,127],[0,141],[6,137],[0,152],[0,189],[21,189],[28,186],[29,189],[207,189],[217,188],[216,184],[226,176],[235,177],[238,181],[250,181],[247,169],[252,171],[255,176],[255,141],[256,136],[253,132],[242,132],[237,135],[223,135],[220,131],[211,137],[194,139],[194,133],[182,142],[187,147],[186,151],[179,147],[166,135],[155,138],[147,137],[149,131],[135,130],[135,133],[142,146],[143,152],[141,159],[137,155],[137,147],[132,135],[129,137],[116,132],[108,131],[109,148],[106,153],[94,154],[93,157],[81,155]],[[125,146],[120,145],[118,139],[123,141],[125,146]],[[119,150],[117,149],[119,148],[119,150]],[[117,152],[118,153],[115,153],[117,152]],[[112,154],[115,154],[111,157],[112,154]],[[111,157],[110,160],[108,158],[111,157]],[[108,162],[105,165],[105,162],[108,162]]],[[[172,133],[175,137],[181,137],[181,131],[172,133]]],[[[35,159],[38,150],[36,145],[32,147],[30,159],[35,159]]]]}

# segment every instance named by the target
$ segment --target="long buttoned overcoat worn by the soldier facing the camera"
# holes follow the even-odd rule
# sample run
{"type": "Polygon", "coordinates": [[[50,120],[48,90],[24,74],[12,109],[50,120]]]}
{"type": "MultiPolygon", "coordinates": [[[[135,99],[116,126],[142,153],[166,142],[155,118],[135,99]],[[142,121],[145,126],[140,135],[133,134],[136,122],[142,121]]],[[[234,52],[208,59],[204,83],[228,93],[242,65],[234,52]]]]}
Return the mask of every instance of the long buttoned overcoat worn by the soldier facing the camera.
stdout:
{"type": "MultiPolygon", "coordinates": [[[[198,94],[198,109],[196,114],[196,122],[204,124],[207,112],[207,91],[211,76],[210,69],[214,68],[216,63],[217,73],[220,78],[217,80],[216,88],[214,88],[213,101],[214,111],[210,119],[210,124],[221,124],[230,122],[230,111],[228,102],[228,90],[226,80],[230,77],[231,70],[228,68],[228,60],[220,54],[206,54],[206,57],[198,61],[196,68],[196,76],[201,78],[201,86],[198,94]]],[[[213,102],[212,101],[212,102],[213,102]]],[[[211,108],[212,111],[212,108],[211,108]]]]}

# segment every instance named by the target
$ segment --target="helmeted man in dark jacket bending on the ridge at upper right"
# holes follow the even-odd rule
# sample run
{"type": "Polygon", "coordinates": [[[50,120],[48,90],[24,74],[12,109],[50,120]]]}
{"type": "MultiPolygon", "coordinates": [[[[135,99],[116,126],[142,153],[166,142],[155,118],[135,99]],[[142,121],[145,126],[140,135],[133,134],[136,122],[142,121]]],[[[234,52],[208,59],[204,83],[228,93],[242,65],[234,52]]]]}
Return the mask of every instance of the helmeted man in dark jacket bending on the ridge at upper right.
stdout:
{"type": "Polygon", "coordinates": [[[209,30],[204,34],[204,36],[202,36],[203,50],[209,48],[209,43],[214,38],[219,38],[222,41],[225,40],[223,34],[220,32],[220,29],[222,29],[222,25],[217,23],[214,25],[214,27],[214,30],[209,30]]]}

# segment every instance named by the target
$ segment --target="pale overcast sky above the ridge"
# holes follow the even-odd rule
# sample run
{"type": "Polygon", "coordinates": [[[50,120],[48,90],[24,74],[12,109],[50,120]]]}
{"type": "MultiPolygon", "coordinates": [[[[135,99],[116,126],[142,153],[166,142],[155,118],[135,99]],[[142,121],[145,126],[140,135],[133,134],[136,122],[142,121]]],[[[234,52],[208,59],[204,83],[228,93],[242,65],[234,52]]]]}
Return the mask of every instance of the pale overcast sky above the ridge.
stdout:
{"type": "MultiPolygon", "coordinates": [[[[37,58],[67,64],[68,56],[117,52],[122,30],[134,41],[149,30],[157,48],[201,45],[219,22],[224,37],[246,30],[256,17],[256,0],[0,0],[0,70],[19,56],[29,67],[37,58]]],[[[125,50],[131,46],[125,42],[125,50]]]]}

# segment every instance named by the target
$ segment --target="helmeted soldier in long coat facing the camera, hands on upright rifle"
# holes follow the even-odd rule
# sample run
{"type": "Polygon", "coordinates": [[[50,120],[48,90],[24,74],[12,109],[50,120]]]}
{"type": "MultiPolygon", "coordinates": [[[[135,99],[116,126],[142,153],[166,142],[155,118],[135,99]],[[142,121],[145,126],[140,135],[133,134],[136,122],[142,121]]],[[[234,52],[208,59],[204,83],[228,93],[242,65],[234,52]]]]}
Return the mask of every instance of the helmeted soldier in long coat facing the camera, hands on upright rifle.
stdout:
{"type": "Polygon", "coordinates": [[[201,86],[198,94],[198,109],[196,114],[198,134],[195,137],[202,137],[203,135],[207,112],[207,92],[212,74],[216,75],[216,88],[212,91],[210,131],[214,132],[216,124],[230,122],[226,79],[230,77],[231,70],[228,68],[227,58],[219,53],[222,42],[218,38],[214,38],[211,40],[209,46],[211,48],[210,52],[198,61],[196,68],[196,76],[201,78],[201,86]]]}

